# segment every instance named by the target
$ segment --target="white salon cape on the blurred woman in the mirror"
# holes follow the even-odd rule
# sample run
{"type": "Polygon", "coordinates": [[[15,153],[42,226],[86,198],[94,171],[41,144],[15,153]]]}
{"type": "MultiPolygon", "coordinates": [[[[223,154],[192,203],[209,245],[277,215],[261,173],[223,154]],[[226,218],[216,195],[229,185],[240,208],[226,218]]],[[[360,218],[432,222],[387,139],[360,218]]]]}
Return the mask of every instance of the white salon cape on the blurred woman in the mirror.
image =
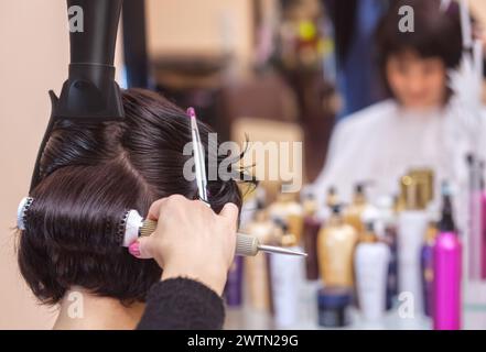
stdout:
{"type": "Polygon", "coordinates": [[[451,99],[441,109],[412,111],[386,100],[339,122],[324,169],[312,185],[320,205],[330,187],[336,188],[343,202],[349,202],[354,186],[361,182],[371,183],[366,191],[371,201],[398,195],[399,180],[410,168],[434,170],[435,201],[440,201],[442,180],[449,180],[453,189],[467,189],[467,153],[479,148],[479,156],[486,156],[485,144],[474,147],[471,133],[479,129],[486,140],[486,123],[472,132],[457,107],[451,99]]]}

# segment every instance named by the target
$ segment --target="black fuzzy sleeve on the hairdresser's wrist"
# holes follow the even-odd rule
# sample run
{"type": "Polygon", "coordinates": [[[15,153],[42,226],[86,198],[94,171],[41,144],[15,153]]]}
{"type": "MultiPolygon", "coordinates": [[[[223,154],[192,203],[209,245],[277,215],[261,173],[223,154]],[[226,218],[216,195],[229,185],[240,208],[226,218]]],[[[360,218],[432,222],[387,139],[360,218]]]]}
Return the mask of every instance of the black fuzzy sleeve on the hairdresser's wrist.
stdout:
{"type": "Polygon", "coordinates": [[[190,278],[171,278],[153,285],[138,330],[216,330],[223,328],[223,299],[190,278]]]}

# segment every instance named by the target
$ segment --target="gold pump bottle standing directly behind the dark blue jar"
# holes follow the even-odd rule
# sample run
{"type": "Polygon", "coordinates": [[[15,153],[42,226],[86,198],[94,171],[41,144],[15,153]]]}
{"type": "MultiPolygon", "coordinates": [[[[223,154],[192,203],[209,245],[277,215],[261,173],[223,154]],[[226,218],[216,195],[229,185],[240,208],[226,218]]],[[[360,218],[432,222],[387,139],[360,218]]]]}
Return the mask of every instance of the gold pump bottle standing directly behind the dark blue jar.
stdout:
{"type": "Polygon", "coordinates": [[[317,255],[321,277],[326,286],[353,287],[353,256],[358,235],[355,228],[344,222],[341,206],[317,235],[317,255]]]}

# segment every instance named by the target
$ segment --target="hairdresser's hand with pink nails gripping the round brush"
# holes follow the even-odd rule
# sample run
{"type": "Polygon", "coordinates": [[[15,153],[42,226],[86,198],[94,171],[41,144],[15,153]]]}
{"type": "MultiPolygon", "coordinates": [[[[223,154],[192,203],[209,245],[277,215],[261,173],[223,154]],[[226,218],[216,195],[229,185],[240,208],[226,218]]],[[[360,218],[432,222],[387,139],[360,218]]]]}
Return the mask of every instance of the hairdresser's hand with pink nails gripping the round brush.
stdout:
{"type": "Polygon", "coordinates": [[[217,215],[204,202],[180,195],[160,199],[148,219],[161,221],[152,235],[139,239],[139,257],[155,258],[162,279],[194,278],[222,295],[235,255],[237,218],[233,204],[217,215]]]}

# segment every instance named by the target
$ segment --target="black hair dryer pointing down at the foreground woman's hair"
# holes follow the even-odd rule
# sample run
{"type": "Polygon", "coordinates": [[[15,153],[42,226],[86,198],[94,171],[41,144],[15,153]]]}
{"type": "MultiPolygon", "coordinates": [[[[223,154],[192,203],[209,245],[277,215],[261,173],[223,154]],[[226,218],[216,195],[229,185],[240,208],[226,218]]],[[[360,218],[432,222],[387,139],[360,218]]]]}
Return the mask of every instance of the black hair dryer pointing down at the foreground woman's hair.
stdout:
{"type": "Polygon", "coordinates": [[[55,118],[108,121],[123,118],[115,81],[115,47],[122,0],[67,0],[69,76],[55,118]]]}

